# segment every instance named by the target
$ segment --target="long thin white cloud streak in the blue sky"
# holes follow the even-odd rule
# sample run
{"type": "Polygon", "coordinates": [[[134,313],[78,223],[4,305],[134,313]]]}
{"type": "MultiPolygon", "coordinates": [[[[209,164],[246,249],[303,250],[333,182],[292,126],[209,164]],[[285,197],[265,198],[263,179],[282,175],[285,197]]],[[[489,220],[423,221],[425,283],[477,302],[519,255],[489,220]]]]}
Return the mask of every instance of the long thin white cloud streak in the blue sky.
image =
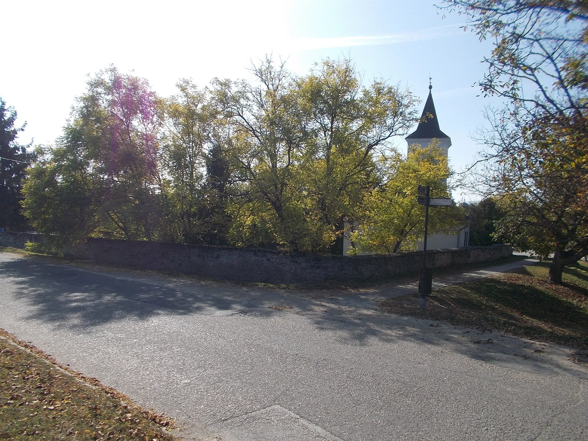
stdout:
{"type": "Polygon", "coordinates": [[[402,32],[389,35],[346,36],[335,38],[293,38],[283,42],[283,48],[292,52],[310,51],[313,49],[346,48],[350,46],[390,45],[414,41],[433,40],[443,36],[456,35],[463,32],[460,24],[437,26],[414,32],[402,32]]]}

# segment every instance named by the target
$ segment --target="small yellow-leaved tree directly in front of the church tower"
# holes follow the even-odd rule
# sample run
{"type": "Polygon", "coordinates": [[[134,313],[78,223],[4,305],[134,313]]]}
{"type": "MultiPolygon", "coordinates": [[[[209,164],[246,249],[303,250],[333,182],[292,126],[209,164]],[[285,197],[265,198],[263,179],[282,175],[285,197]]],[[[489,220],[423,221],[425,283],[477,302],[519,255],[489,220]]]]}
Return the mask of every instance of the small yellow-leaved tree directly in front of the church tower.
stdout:
{"type": "MultiPolygon", "coordinates": [[[[449,197],[447,156],[434,140],[427,148],[395,153],[386,162],[386,182],[368,193],[359,228],[351,238],[355,252],[381,254],[414,250],[425,235],[425,206],[417,203],[417,186],[429,185],[431,196],[449,197]]],[[[465,219],[463,208],[430,208],[429,233],[453,233],[465,219]]]]}

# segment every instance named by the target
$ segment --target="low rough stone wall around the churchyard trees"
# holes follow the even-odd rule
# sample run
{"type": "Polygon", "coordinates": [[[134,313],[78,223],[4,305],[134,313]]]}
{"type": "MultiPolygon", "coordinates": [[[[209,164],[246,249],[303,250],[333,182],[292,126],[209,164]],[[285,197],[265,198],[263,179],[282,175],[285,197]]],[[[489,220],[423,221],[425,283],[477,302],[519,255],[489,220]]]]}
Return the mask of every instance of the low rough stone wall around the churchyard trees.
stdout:
{"type": "MultiPolygon", "coordinates": [[[[31,233],[0,233],[0,245],[16,248],[22,248],[26,240],[34,242],[39,239],[42,239],[41,235],[31,233]],[[18,234],[23,237],[7,237],[18,234]],[[19,246],[21,243],[22,246],[19,246]]],[[[402,273],[416,273],[423,256],[420,251],[393,255],[333,256],[111,239],[88,239],[86,243],[63,252],[75,258],[110,265],[267,283],[380,279],[402,273]]],[[[427,252],[427,263],[433,268],[442,268],[509,256],[512,256],[510,245],[469,246],[430,250],[427,252]]]]}

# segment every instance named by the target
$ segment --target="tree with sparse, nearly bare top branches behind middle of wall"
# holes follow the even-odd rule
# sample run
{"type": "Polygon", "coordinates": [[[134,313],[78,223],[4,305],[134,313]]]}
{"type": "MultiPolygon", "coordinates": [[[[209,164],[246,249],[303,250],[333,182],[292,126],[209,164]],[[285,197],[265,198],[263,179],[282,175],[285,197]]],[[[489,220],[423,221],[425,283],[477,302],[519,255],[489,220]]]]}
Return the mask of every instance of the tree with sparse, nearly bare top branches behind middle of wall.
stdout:
{"type": "Polygon", "coordinates": [[[239,181],[233,198],[233,240],[242,246],[304,249],[303,213],[294,196],[305,139],[292,75],[267,57],[255,82],[215,82],[215,96],[232,129],[230,161],[239,181]]]}

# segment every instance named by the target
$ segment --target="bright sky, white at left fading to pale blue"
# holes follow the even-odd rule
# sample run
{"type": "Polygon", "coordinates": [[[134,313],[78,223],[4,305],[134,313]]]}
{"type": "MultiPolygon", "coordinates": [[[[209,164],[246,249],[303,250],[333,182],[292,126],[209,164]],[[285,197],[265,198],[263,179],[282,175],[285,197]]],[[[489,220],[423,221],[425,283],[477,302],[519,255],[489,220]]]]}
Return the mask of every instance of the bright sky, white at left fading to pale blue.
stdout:
{"type": "MultiPolygon", "coordinates": [[[[88,75],[110,64],[148,79],[162,96],[180,78],[248,78],[265,54],[306,74],[324,58],[350,57],[366,83],[383,78],[427,98],[460,171],[482,146],[472,139],[490,104],[476,86],[490,42],[463,31],[442,0],[27,1],[0,0],[4,63],[0,96],[26,121],[19,142],[51,144],[88,75]],[[445,14],[445,15],[444,15],[445,14]]],[[[400,149],[406,143],[397,141],[400,149]]],[[[467,190],[456,199],[471,199],[467,190]]]]}

